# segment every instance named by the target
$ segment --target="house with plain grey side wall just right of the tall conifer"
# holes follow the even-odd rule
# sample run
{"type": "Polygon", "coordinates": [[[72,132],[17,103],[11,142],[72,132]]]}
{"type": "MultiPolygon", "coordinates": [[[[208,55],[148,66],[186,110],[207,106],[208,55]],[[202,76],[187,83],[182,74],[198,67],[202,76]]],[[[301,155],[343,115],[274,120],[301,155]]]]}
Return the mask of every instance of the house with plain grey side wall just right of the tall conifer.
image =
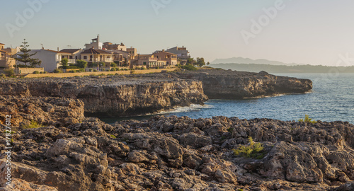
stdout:
{"type": "Polygon", "coordinates": [[[59,49],[58,51],[49,49],[31,50],[28,53],[35,54],[31,58],[40,59],[40,61],[42,61],[40,67],[43,67],[44,70],[48,72],[52,72],[59,68],[59,66],[61,66],[60,62],[62,61],[62,57],[67,57],[70,55],[68,52],[59,52],[59,49]]]}

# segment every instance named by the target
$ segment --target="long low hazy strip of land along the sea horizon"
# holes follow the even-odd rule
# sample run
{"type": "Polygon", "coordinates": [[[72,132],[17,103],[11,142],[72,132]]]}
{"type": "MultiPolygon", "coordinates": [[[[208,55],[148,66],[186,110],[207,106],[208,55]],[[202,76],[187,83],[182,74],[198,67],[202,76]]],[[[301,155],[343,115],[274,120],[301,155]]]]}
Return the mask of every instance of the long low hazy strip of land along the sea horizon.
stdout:
{"type": "Polygon", "coordinates": [[[236,71],[267,71],[275,73],[354,73],[354,66],[313,66],[313,65],[269,65],[269,64],[210,64],[213,68],[232,69],[236,71]]]}

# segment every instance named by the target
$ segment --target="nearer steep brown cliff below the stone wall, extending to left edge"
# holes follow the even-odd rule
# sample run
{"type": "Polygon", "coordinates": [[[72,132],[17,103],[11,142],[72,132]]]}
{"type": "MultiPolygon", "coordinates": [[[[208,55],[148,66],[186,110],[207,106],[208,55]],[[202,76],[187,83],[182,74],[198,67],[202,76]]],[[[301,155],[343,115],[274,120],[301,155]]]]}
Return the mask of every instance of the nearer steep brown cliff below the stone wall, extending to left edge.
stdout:
{"type": "Polygon", "coordinates": [[[125,78],[94,76],[76,79],[2,80],[0,93],[12,96],[73,98],[84,102],[85,111],[110,116],[139,115],[202,104],[207,100],[202,82],[166,76],[125,78]]]}

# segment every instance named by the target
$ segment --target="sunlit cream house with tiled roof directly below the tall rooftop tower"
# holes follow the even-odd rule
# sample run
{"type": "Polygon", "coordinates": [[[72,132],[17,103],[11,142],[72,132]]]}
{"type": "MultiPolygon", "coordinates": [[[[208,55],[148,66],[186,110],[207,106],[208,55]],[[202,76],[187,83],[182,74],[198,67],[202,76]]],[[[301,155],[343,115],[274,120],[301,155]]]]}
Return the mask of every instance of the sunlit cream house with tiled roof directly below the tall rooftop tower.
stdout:
{"type": "Polygon", "coordinates": [[[81,59],[85,60],[86,62],[114,62],[114,54],[111,51],[96,50],[94,48],[90,48],[81,52],[80,55],[81,59]]]}

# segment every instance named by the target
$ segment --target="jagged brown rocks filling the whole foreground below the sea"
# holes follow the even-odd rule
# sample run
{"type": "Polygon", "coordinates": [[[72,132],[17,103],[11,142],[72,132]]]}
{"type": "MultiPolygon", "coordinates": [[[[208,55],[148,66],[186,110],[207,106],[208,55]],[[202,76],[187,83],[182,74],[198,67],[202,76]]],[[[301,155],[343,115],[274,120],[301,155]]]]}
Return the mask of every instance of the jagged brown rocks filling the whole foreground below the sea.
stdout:
{"type": "MultiPolygon", "coordinates": [[[[353,190],[354,126],[156,116],[105,124],[81,101],[0,96],[11,112],[12,183],[7,190],[353,190]],[[33,110],[32,108],[36,108],[33,110]],[[32,120],[43,127],[28,128],[32,120]],[[28,129],[25,129],[28,128],[28,129]],[[256,158],[236,156],[249,137],[256,158]]],[[[5,134],[0,137],[4,148],[5,134]]],[[[2,150],[0,174],[6,174],[2,150]]],[[[4,185],[5,179],[0,183],[4,185]]]]}

